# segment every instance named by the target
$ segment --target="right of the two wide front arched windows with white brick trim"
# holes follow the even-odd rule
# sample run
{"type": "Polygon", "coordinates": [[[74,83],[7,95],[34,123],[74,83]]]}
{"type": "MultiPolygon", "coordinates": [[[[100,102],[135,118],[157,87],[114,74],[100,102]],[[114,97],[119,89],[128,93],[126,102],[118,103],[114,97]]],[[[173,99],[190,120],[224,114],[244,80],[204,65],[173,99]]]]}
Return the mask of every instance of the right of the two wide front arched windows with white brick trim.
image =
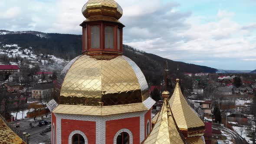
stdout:
{"type": "Polygon", "coordinates": [[[126,128],[119,130],[115,134],[114,144],[133,144],[131,131],[126,128]]]}

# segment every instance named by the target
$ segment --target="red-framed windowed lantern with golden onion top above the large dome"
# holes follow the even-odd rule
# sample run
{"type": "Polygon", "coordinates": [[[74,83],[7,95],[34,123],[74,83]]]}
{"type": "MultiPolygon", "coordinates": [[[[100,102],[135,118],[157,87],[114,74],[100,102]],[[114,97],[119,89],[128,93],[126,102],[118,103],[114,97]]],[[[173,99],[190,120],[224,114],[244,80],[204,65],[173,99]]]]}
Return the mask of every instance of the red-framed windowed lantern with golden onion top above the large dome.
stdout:
{"type": "Polygon", "coordinates": [[[123,10],[115,0],[89,0],[82,8],[82,52],[122,53],[123,10]]]}

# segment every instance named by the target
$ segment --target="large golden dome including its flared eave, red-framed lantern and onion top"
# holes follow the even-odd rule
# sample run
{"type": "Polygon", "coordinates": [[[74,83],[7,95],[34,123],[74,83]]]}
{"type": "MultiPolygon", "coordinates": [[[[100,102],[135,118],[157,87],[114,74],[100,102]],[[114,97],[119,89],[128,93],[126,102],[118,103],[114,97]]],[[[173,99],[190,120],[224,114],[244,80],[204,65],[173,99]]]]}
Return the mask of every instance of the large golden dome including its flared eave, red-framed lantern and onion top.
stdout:
{"type": "Polygon", "coordinates": [[[144,101],[154,100],[149,98],[147,81],[138,65],[122,56],[123,25],[108,19],[118,20],[121,7],[114,0],[89,0],[82,13],[87,18],[81,24],[82,55],[71,60],[59,75],[55,88],[59,107],[55,112],[108,115],[148,109],[144,101]],[[88,20],[92,17],[97,19],[88,20]],[[76,108],[75,112],[71,108],[76,108]]]}

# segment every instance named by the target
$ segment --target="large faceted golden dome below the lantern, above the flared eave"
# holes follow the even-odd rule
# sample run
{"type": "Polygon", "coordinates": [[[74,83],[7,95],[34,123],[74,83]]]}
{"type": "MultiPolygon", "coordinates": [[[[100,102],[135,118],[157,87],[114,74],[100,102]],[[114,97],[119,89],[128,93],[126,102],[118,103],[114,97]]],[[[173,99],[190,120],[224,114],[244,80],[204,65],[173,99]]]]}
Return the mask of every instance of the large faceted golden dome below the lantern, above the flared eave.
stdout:
{"type": "Polygon", "coordinates": [[[141,103],[148,84],[138,65],[126,56],[87,53],[62,70],[56,96],[64,105],[108,106],[141,103]]]}

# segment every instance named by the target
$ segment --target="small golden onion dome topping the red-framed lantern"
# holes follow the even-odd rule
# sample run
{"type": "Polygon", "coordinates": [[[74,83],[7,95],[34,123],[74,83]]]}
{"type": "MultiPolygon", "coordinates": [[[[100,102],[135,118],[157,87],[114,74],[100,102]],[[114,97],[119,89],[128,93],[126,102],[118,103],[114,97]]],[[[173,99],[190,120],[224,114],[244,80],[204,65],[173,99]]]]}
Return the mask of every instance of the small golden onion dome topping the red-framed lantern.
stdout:
{"type": "Polygon", "coordinates": [[[110,16],[119,20],[123,10],[115,0],[89,0],[82,8],[82,14],[86,19],[91,16],[110,16]]]}

